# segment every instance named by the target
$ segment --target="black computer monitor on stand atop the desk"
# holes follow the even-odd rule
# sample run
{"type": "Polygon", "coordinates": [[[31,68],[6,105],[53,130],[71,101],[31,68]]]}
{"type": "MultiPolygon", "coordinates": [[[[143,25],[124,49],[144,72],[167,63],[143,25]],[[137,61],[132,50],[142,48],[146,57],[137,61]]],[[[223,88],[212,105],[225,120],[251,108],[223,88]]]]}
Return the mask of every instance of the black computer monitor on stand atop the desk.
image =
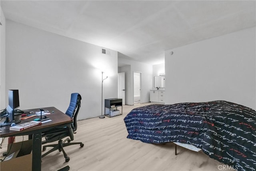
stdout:
{"type": "Polygon", "coordinates": [[[19,90],[18,89],[9,89],[9,105],[6,108],[6,112],[8,116],[6,117],[6,121],[4,125],[11,125],[12,123],[19,123],[20,121],[15,121],[14,119],[14,109],[20,107],[19,100],[19,90]]]}

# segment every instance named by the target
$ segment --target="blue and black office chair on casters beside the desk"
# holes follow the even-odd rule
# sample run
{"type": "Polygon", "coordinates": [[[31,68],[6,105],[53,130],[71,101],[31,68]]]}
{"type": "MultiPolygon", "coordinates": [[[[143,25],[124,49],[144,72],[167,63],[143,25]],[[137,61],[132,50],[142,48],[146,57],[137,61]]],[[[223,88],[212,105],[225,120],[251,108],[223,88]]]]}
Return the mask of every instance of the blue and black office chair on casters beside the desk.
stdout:
{"type": "Polygon", "coordinates": [[[79,93],[71,94],[70,105],[66,111],[66,115],[73,118],[73,123],[70,126],[65,126],[65,127],[58,126],[54,129],[51,129],[49,131],[42,133],[42,137],[45,137],[45,141],[42,141],[42,144],[58,141],[58,144],[44,145],[42,151],[45,151],[46,147],[53,147],[53,148],[50,149],[50,151],[47,151],[46,153],[44,153],[42,157],[58,149],[59,151],[62,151],[65,157],[65,161],[68,162],[70,158],[64,151],[63,147],[66,147],[69,145],[75,145],[75,144],[80,144],[80,147],[84,147],[84,144],[82,142],[70,143],[71,141],[74,140],[73,133],[76,133],[75,132],[77,129],[76,118],[81,106],[81,99],[82,97],[79,93]],[[70,137],[70,138],[67,138],[64,141],[62,141],[62,139],[64,139],[65,137],[70,137]]]}

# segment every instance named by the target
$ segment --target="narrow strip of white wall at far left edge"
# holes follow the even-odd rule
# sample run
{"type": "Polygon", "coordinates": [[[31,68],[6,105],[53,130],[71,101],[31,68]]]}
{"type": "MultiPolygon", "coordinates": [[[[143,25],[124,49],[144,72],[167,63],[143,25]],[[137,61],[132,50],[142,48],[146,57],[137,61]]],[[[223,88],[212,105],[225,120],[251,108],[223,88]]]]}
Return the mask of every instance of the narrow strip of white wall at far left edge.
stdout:
{"type": "Polygon", "coordinates": [[[5,105],[5,17],[1,10],[1,23],[0,26],[0,110],[6,107],[5,105]]]}

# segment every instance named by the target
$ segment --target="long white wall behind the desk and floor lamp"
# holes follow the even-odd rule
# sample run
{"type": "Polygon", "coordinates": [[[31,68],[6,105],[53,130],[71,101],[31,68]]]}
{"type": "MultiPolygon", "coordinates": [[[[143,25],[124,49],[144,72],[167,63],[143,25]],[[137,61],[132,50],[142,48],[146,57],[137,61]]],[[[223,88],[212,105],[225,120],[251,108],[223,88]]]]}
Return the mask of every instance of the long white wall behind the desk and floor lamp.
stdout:
{"type": "Polygon", "coordinates": [[[103,99],[118,93],[117,52],[110,54],[102,54],[99,46],[6,20],[6,92],[19,89],[20,109],[54,106],[63,112],[70,94],[78,92],[82,96],[78,119],[97,117],[101,71],[108,75],[103,99]]]}

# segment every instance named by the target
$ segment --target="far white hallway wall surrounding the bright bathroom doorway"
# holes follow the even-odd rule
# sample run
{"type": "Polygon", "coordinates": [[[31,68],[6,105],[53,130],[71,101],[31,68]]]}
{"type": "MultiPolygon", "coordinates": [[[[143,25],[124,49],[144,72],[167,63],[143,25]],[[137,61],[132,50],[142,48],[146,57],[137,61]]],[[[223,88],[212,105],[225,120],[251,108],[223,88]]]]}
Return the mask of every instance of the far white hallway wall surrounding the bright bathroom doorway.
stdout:
{"type": "MultiPolygon", "coordinates": [[[[130,81],[131,89],[126,89],[126,104],[127,105],[133,105],[133,72],[142,72],[142,82],[141,82],[141,97],[140,97],[140,103],[147,103],[149,102],[149,95],[150,95],[150,89],[152,88],[152,65],[144,64],[141,62],[136,62],[132,60],[127,60],[125,58],[118,58],[118,62],[122,64],[130,65],[130,76],[126,78],[130,81]]],[[[124,71],[120,71],[124,72],[124,71]]]]}

